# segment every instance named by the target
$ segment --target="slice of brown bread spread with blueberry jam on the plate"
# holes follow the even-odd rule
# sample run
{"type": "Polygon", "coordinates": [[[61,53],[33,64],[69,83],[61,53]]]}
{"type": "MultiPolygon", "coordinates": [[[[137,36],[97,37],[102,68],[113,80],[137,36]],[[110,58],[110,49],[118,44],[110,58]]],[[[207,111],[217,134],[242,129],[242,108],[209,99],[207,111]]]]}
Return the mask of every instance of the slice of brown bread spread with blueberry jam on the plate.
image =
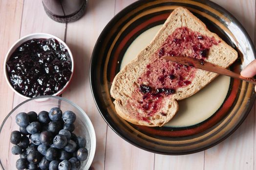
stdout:
{"type": "Polygon", "coordinates": [[[227,68],[237,52],[187,9],[176,8],[149,46],[113,80],[110,94],[123,119],[163,126],[177,113],[177,101],[192,96],[217,76],[166,61],[163,56],[188,56],[227,68]]]}

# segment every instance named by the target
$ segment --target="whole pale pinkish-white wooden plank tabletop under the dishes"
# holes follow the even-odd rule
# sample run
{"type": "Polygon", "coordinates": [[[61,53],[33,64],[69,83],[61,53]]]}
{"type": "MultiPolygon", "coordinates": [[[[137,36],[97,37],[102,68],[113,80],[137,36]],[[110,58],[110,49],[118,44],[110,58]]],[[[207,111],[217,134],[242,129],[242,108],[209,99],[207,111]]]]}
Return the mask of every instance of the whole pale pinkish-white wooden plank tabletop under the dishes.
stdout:
{"type": "MultiPolygon", "coordinates": [[[[63,97],[82,107],[94,125],[97,148],[91,170],[256,170],[255,107],[233,135],[211,149],[189,155],[149,153],[129,144],[107,126],[90,90],[90,57],[107,22],[134,1],[88,0],[84,17],[62,24],[46,16],[41,0],[0,0],[0,123],[24,101],[5,82],[5,54],[21,36],[49,33],[62,38],[75,59],[75,74],[63,97]]],[[[256,0],[213,1],[231,12],[255,42],[256,0]]]]}

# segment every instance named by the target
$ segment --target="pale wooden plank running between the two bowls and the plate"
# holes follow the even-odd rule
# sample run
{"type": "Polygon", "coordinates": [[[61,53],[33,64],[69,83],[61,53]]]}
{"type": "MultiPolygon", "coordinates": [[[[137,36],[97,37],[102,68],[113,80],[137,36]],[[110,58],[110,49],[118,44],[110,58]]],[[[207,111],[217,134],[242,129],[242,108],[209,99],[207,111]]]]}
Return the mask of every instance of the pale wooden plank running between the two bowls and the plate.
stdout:
{"type": "Polygon", "coordinates": [[[90,84],[90,58],[100,33],[114,16],[114,0],[88,0],[85,16],[68,23],[66,43],[70,47],[75,63],[73,80],[63,97],[85,110],[95,129],[96,153],[91,166],[93,170],[104,170],[107,124],[94,103],[90,84]]]}

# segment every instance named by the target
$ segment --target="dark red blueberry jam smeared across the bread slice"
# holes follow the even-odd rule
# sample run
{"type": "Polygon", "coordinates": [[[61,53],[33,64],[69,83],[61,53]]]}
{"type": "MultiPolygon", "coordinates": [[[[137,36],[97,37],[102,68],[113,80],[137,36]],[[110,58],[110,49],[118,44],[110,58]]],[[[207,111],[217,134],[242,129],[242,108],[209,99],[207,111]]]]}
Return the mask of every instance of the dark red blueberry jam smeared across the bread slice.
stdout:
{"type": "Polygon", "coordinates": [[[190,56],[204,60],[207,57],[206,51],[217,44],[214,37],[201,35],[187,27],[177,28],[169,35],[160,50],[153,54],[151,64],[147,65],[144,73],[136,82],[140,85],[138,90],[142,92],[142,95],[137,95],[135,92],[130,104],[145,112],[145,115],[139,115],[138,119],[153,116],[161,107],[160,98],[174,94],[175,89],[179,87],[190,85],[194,78],[196,68],[168,62],[161,59],[162,56],[190,56]],[[145,90],[142,90],[144,86],[151,90],[145,93],[145,90]]]}

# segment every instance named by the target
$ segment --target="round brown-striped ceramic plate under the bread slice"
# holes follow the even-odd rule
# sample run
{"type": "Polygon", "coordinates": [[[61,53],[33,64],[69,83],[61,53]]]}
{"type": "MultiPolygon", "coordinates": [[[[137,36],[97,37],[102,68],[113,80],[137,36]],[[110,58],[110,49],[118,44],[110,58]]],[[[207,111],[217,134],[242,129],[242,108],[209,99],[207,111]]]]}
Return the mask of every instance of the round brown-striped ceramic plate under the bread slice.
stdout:
{"type": "Polygon", "coordinates": [[[92,53],[92,93],[102,117],[119,136],[154,153],[188,154],[216,145],[243,122],[256,96],[252,84],[218,76],[192,97],[179,101],[178,113],[163,127],[133,125],[116,115],[109,94],[111,82],[150,43],[178,6],[189,9],[238,52],[231,70],[240,72],[255,59],[253,43],[241,24],[211,1],[139,0],[117,14],[103,30],[92,53]]]}

